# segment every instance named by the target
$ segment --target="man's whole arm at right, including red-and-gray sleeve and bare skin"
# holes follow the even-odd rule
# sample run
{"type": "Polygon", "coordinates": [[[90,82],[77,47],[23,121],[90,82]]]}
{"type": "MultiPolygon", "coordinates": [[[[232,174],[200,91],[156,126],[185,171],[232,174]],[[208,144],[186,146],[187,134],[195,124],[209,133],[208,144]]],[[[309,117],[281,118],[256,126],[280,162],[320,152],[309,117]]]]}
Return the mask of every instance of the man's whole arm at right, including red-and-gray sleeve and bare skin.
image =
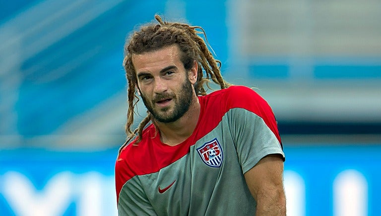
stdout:
{"type": "Polygon", "coordinates": [[[230,131],[242,172],[256,201],[256,216],[285,216],[282,179],[285,158],[274,113],[250,88],[237,86],[230,93],[227,101],[238,107],[230,110],[230,131]]]}

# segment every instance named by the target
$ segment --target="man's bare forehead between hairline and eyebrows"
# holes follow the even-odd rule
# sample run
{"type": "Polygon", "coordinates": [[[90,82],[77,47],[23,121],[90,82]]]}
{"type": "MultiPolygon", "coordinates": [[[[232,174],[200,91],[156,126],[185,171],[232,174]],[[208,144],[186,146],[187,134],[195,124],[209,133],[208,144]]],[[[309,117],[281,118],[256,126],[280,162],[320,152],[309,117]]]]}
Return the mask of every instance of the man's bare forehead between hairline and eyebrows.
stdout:
{"type": "Polygon", "coordinates": [[[132,54],[132,64],[136,72],[154,72],[169,65],[179,67],[182,65],[179,54],[177,45],[166,46],[155,51],[132,54]]]}

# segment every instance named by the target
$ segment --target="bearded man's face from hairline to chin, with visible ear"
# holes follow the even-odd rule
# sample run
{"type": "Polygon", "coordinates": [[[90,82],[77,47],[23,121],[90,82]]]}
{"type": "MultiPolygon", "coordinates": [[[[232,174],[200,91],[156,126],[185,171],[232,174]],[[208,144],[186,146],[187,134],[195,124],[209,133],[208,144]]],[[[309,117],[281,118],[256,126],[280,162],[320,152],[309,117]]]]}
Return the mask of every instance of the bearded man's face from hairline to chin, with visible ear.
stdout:
{"type": "Polygon", "coordinates": [[[132,63],[140,96],[156,121],[174,122],[189,110],[197,69],[185,70],[177,45],[133,54],[132,63]]]}

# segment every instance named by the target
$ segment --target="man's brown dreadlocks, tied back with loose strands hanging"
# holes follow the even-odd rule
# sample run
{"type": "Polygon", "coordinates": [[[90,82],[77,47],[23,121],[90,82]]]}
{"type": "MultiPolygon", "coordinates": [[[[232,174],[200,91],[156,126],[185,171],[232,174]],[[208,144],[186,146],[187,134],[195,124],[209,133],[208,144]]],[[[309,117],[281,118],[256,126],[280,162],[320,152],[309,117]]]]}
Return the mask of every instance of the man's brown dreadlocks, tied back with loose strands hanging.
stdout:
{"type": "Polygon", "coordinates": [[[155,15],[155,19],[159,24],[141,27],[139,31],[132,33],[125,44],[123,66],[126,70],[128,82],[127,141],[125,145],[136,135],[138,137],[135,144],[140,142],[143,129],[150,121],[153,122],[151,113],[147,111],[147,116],[139,124],[138,128],[134,131],[131,130],[134,107],[139,101],[139,98],[136,96],[136,87],[138,86],[136,71],[132,64],[133,54],[156,51],[166,46],[177,44],[180,50],[180,60],[183,62],[186,71],[191,70],[194,61],[198,64],[197,81],[194,84],[196,95],[206,95],[204,84],[211,89],[208,85],[209,80],[219,85],[221,89],[230,86],[221,76],[221,62],[213,58],[204,40],[197,35],[203,34],[206,43],[208,43],[205,31],[201,27],[182,23],[169,23],[165,20],[163,22],[159,15],[155,15]],[[201,32],[196,29],[201,30],[201,32]],[[203,77],[203,71],[205,72],[205,78],[203,77]]]}

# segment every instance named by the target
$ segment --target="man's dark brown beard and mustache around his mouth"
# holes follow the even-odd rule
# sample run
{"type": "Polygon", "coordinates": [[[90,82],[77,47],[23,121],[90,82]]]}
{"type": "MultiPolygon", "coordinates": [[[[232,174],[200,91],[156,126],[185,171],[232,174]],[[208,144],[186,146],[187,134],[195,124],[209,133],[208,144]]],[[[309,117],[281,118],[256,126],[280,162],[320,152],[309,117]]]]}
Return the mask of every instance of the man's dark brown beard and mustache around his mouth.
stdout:
{"type": "Polygon", "coordinates": [[[143,100],[145,107],[152,114],[153,118],[156,121],[162,123],[171,123],[180,119],[189,110],[189,107],[191,106],[192,102],[192,92],[192,84],[188,80],[188,78],[186,78],[185,82],[181,87],[179,95],[176,95],[175,93],[160,94],[155,96],[152,99],[152,101],[148,101],[148,99],[145,96],[143,96],[143,94],[141,94],[140,96],[143,100]],[[169,109],[168,107],[161,108],[160,111],[154,109],[155,101],[168,97],[172,98],[172,100],[174,100],[175,102],[175,106],[173,107],[172,112],[167,112],[169,109]]]}

